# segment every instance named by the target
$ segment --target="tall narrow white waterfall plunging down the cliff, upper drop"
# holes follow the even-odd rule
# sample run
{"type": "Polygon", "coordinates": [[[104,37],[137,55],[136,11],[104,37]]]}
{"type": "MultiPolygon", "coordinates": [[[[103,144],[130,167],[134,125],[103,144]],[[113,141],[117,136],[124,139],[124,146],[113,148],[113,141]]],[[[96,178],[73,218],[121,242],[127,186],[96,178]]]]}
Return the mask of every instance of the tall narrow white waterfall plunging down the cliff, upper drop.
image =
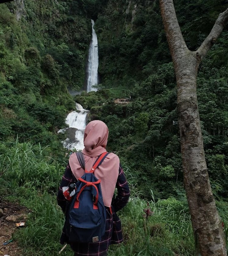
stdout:
{"type": "Polygon", "coordinates": [[[89,59],[88,59],[88,78],[87,78],[87,92],[97,91],[97,89],[92,86],[98,84],[98,41],[97,35],[94,30],[94,20],[92,23],[92,41],[90,43],[89,49],[89,59]]]}

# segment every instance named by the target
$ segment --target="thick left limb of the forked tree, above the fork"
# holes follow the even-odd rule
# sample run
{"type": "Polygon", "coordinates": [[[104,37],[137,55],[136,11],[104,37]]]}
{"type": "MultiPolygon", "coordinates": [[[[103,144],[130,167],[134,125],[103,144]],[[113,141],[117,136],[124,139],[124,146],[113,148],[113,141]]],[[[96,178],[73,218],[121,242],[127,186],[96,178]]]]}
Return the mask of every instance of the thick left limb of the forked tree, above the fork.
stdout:
{"type": "Polygon", "coordinates": [[[173,54],[176,55],[177,52],[178,55],[180,55],[180,52],[183,50],[186,52],[188,48],[176,18],[173,0],[160,0],[160,10],[172,57],[173,54]]]}

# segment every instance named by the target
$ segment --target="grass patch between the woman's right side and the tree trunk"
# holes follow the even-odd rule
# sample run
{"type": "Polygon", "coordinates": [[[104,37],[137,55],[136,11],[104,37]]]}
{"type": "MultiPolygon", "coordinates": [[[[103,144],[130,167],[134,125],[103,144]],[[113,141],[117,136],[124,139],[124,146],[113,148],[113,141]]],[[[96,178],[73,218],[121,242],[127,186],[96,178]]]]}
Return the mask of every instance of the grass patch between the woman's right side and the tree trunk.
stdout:
{"type": "Polygon", "coordinates": [[[131,198],[122,210],[124,243],[112,246],[110,256],[194,256],[194,238],[186,202],[174,198],[158,202],[145,202],[137,197],[131,198]],[[154,212],[148,219],[144,209],[150,207],[154,212]]]}

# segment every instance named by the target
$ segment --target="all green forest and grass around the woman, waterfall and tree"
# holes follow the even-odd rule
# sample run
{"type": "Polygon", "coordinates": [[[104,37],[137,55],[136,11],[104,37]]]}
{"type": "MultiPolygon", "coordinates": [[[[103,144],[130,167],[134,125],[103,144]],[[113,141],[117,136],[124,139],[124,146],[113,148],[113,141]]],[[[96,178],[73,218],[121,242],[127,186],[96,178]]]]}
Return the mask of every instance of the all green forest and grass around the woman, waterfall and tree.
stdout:
{"type": "MultiPolygon", "coordinates": [[[[196,50],[225,0],[175,0],[196,50]]],[[[211,186],[228,234],[228,30],[198,72],[198,104],[211,186]]],[[[0,4],[0,195],[32,209],[14,234],[24,252],[56,255],[63,215],[56,191],[68,161],[57,134],[74,101],[109,128],[132,191],[121,212],[124,243],[109,255],[197,255],[181,167],[174,68],[158,0],[16,0],[0,4]],[[98,92],[84,90],[90,19],[98,35],[98,92]],[[115,98],[131,98],[116,105],[115,98]],[[147,204],[148,201],[148,204],[147,204]],[[150,206],[154,215],[143,217],[150,206]],[[54,216],[54,218],[53,218],[54,216]],[[146,239],[145,239],[146,238],[146,239]]],[[[1,197],[0,197],[1,199],[1,197]]],[[[70,254],[70,250],[63,252],[70,254]]]]}

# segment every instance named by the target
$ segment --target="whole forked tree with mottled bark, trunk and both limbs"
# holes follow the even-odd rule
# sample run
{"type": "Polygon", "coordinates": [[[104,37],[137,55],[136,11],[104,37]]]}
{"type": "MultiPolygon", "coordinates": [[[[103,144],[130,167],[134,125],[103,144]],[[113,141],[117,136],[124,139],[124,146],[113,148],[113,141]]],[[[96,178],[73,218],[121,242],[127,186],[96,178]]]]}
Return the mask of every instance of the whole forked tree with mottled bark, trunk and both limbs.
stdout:
{"type": "Polygon", "coordinates": [[[196,245],[202,256],[227,256],[224,231],[212,195],[204,156],[196,77],[202,58],[222,31],[219,24],[224,26],[228,10],[224,15],[220,14],[214,30],[200,48],[191,52],[180,31],[173,1],[160,0],[160,9],[176,73],[182,168],[196,245]]]}

